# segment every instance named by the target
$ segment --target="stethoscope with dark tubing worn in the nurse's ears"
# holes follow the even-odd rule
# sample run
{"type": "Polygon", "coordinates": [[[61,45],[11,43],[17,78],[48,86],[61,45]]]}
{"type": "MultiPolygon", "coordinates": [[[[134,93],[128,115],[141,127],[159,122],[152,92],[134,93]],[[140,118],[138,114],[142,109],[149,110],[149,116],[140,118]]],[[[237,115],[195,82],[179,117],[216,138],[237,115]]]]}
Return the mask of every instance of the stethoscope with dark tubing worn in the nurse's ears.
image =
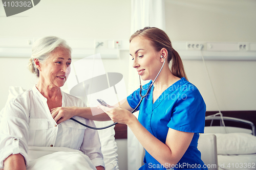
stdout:
{"type": "MultiPolygon", "coordinates": [[[[163,56],[161,56],[160,58],[163,58],[163,59],[164,59],[164,61],[163,61],[163,65],[164,65],[164,63],[165,63],[165,58],[164,58],[163,56]]],[[[150,92],[150,90],[151,90],[153,84],[155,83],[155,81],[156,81],[158,75],[160,74],[161,70],[163,69],[163,65],[162,65],[161,69],[159,70],[159,72],[158,72],[158,74],[157,74],[155,80],[150,84],[150,86],[147,87],[147,89],[143,89],[143,88],[142,88],[141,81],[140,81],[140,97],[141,97],[141,99],[140,99],[139,104],[135,107],[135,109],[134,109],[131,113],[134,113],[134,112],[137,110],[137,108],[140,106],[142,100],[143,100],[143,99],[147,96],[147,94],[150,92]],[[141,94],[142,90],[147,90],[144,95],[141,94]]],[[[140,76],[139,76],[139,79],[140,79],[140,76]]],[[[91,127],[91,126],[85,125],[85,124],[79,122],[78,120],[76,120],[76,119],[74,119],[74,118],[72,118],[72,117],[71,117],[70,119],[71,119],[71,120],[74,120],[75,122],[77,122],[78,124],[80,124],[80,125],[82,125],[82,126],[85,126],[85,127],[87,127],[87,128],[94,129],[94,130],[102,130],[102,129],[106,129],[106,128],[109,128],[109,127],[112,127],[112,126],[118,124],[118,123],[116,122],[116,123],[113,123],[113,124],[111,124],[111,125],[109,125],[109,126],[105,126],[105,127],[102,127],[102,128],[96,128],[96,127],[91,127]]]]}

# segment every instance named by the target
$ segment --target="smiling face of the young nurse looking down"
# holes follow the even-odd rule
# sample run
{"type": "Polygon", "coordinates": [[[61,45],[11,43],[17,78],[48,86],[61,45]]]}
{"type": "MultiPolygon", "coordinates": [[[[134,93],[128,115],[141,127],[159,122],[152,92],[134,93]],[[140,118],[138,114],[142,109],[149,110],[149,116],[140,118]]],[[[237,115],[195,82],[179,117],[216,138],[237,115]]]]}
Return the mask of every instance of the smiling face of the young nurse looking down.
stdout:
{"type": "Polygon", "coordinates": [[[130,43],[130,55],[133,60],[133,67],[138,71],[142,80],[154,80],[160,70],[161,53],[156,52],[150,40],[142,37],[135,37],[130,43]]]}

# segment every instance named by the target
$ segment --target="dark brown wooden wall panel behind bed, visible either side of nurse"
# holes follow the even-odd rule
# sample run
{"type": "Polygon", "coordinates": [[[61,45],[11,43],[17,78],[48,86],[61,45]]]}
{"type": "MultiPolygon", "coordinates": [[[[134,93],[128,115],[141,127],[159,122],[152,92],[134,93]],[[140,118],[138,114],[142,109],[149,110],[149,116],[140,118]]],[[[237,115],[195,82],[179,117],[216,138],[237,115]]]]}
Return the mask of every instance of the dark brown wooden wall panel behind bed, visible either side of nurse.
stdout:
{"type": "MultiPolygon", "coordinates": [[[[215,113],[218,113],[219,111],[206,111],[205,116],[212,115],[215,113]]],[[[227,117],[236,117],[236,118],[242,118],[245,120],[249,120],[256,126],[256,110],[250,110],[250,111],[221,111],[223,116],[227,117]]],[[[205,126],[210,125],[210,120],[205,122],[205,126]]],[[[218,121],[214,121],[212,124],[213,126],[219,126],[218,121]]],[[[232,127],[242,127],[246,129],[250,129],[250,126],[247,125],[237,125],[236,123],[225,121],[226,126],[232,126],[232,127]]],[[[115,138],[116,139],[126,139],[127,138],[127,126],[124,124],[116,124],[115,126],[115,138]]]]}

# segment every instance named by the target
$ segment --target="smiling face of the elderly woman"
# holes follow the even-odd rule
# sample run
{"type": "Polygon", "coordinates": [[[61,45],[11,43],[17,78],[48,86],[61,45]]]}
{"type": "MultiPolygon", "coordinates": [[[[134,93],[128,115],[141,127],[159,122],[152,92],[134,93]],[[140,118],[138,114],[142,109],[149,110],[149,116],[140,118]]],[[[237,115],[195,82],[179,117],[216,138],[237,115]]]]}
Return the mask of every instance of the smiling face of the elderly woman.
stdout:
{"type": "Polygon", "coordinates": [[[49,58],[41,63],[40,78],[47,86],[61,87],[68,79],[70,64],[70,51],[63,47],[57,47],[49,58]]]}

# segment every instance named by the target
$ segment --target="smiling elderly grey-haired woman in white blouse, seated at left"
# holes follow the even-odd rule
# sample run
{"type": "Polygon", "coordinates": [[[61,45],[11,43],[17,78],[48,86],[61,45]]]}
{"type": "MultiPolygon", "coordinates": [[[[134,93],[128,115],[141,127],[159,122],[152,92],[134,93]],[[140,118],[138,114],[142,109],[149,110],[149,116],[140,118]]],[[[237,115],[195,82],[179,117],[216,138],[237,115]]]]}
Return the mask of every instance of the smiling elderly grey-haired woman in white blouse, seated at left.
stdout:
{"type": "MultiPolygon", "coordinates": [[[[30,165],[29,147],[35,146],[48,149],[52,147],[56,150],[57,147],[62,150],[80,150],[82,155],[90,158],[84,158],[81,162],[87,161],[91,169],[104,169],[98,132],[72,120],[57,125],[51,116],[52,108],[85,107],[80,99],[60,90],[68,78],[70,64],[71,48],[65,40],[49,36],[33,44],[29,68],[38,77],[38,82],[32,89],[12,99],[4,108],[0,124],[0,168],[26,169],[26,166],[30,165]]],[[[92,120],[75,118],[94,126],[92,120]]],[[[63,158],[61,164],[67,163],[71,153],[73,152],[68,153],[66,160],[63,158]]],[[[61,156],[65,156],[65,152],[62,152],[61,156]]],[[[49,162],[55,164],[57,161],[52,159],[47,161],[49,162]]]]}

